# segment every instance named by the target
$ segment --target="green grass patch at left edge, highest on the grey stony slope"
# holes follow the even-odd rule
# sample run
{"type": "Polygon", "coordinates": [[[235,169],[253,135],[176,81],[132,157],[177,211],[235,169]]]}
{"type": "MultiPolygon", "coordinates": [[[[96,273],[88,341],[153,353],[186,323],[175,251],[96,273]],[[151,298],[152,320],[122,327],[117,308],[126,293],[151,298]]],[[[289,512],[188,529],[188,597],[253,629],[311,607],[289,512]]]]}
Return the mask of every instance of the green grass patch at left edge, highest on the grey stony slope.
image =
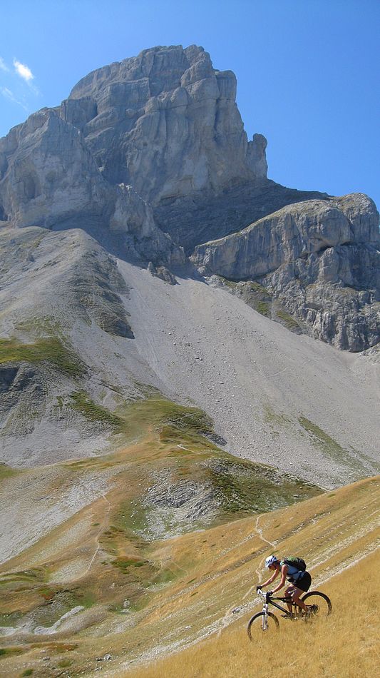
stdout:
{"type": "Polygon", "coordinates": [[[23,344],[16,339],[0,339],[1,363],[49,363],[56,370],[75,378],[86,372],[73,351],[56,337],[38,339],[32,344],[23,344]]]}

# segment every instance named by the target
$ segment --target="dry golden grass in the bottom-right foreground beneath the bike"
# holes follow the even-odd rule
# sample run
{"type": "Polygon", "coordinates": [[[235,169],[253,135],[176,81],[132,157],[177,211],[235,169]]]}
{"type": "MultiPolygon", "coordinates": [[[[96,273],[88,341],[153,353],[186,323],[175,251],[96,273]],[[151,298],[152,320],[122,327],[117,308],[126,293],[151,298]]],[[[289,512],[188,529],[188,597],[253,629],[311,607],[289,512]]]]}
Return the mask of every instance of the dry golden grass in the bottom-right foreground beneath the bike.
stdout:
{"type": "Polygon", "coordinates": [[[149,667],[118,674],[128,678],[357,678],[379,675],[379,553],[365,557],[323,586],[333,613],[314,622],[281,619],[279,632],[247,638],[240,619],[219,636],[149,667]]]}

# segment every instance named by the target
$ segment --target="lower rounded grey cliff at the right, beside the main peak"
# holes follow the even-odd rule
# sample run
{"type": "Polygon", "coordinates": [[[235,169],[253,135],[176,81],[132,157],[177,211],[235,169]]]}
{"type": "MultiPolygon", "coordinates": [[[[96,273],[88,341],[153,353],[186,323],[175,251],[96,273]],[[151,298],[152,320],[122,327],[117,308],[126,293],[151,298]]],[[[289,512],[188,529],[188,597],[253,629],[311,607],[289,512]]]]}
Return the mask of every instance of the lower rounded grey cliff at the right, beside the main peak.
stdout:
{"type": "Polygon", "coordinates": [[[379,342],[379,214],[367,196],[307,201],[197,246],[205,273],[256,280],[314,338],[364,350],[379,342]]]}

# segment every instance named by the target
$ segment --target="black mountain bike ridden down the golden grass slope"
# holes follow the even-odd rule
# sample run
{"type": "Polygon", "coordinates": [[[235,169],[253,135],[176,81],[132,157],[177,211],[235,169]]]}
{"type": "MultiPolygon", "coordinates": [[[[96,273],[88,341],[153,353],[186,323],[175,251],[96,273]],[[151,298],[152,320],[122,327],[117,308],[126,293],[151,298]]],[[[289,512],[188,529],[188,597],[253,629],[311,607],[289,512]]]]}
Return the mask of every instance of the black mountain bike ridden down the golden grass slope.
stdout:
{"type": "Polygon", "coordinates": [[[279,629],[279,620],[276,615],[268,611],[269,604],[273,607],[277,607],[281,612],[283,617],[287,619],[308,619],[327,617],[332,611],[332,603],[329,597],[326,594],[319,591],[309,591],[305,593],[301,600],[306,605],[306,613],[302,607],[298,607],[293,602],[292,597],[287,596],[284,598],[274,598],[270,593],[265,593],[261,589],[257,590],[257,593],[263,599],[262,612],[257,612],[251,617],[248,622],[247,633],[250,640],[252,640],[252,632],[257,634],[260,632],[269,631],[269,629],[277,630],[279,629]],[[292,612],[289,612],[289,609],[281,607],[276,600],[279,600],[284,603],[290,603],[292,605],[292,612]]]}

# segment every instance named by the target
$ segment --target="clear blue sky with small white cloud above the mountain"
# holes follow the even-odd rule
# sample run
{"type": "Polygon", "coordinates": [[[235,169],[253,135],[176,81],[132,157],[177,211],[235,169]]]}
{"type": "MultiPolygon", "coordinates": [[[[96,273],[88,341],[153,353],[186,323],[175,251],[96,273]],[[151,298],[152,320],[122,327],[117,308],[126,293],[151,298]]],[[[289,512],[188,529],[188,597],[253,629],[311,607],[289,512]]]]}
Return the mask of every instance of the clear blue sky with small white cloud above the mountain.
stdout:
{"type": "Polygon", "coordinates": [[[0,0],[0,136],[100,66],[202,45],[237,75],[268,176],[380,208],[380,0],[0,0]]]}

